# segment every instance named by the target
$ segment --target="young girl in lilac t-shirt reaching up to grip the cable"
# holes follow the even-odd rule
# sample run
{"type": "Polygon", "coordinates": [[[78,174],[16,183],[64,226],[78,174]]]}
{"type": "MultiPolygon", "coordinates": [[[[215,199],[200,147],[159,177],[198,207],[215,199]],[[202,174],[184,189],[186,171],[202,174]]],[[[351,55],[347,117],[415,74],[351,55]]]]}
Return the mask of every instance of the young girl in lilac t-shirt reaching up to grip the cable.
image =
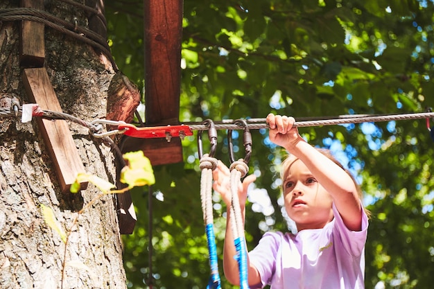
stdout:
{"type": "MultiPolygon", "coordinates": [[[[361,289],[364,286],[367,214],[354,179],[333,159],[306,143],[295,120],[269,114],[270,141],[290,152],[282,170],[285,209],[297,225],[297,234],[268,232],[248,253],[251,289],[361,289]]],[[[238,285],[238,264],[230,229],[231,192],[229,169],[219,162],[214,189],[227,205],[227,229],[223,256],[225,277],[238,285]]],[[[245,213],[248,185],[238,190],[245,213]]]]}

